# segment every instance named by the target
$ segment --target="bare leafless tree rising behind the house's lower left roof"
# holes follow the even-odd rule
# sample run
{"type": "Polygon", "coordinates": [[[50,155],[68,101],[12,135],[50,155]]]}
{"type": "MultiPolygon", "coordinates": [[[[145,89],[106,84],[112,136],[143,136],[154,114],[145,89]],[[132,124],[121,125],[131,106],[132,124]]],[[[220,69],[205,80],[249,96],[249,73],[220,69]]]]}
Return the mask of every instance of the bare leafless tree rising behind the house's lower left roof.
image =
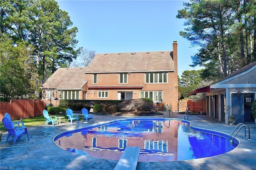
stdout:
{"type": "Polygon", "coordinates": [[[88,67],[92,60],[95,57],[95,51],[89,51],[88,49],[81,49],[81,53],[79,58],[82,59],[82,62],[76,63],[75,61],[72,62],[73,67],[88,67]]]}

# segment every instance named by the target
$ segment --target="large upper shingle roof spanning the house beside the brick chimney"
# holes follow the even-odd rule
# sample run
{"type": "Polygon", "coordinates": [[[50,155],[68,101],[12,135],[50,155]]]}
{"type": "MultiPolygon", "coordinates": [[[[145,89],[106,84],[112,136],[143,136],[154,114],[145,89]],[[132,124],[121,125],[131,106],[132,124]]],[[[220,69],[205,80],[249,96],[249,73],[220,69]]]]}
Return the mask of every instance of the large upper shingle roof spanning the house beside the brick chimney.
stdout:
{"type": "Polygon", "coordinates": [[[174,71],[172,51],[96,54],[86,72],[174,71]]]}

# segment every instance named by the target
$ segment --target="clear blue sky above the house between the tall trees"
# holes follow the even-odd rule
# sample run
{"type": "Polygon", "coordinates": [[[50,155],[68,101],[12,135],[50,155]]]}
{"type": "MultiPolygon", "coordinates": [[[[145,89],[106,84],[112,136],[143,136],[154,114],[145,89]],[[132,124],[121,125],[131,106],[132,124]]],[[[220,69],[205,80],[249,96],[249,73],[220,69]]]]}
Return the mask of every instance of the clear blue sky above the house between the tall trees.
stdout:
{"type": "MultiPolygon", "coordinates": [[[[184,0],[57,0],[78,28],[78,47],[96,53],[172,51],[178,42],[178,75],[197,52],[182,38],[185,20],[176,18],[184,0]]],[[[79,62],[79,58],[78,58],[79,62]]]]}

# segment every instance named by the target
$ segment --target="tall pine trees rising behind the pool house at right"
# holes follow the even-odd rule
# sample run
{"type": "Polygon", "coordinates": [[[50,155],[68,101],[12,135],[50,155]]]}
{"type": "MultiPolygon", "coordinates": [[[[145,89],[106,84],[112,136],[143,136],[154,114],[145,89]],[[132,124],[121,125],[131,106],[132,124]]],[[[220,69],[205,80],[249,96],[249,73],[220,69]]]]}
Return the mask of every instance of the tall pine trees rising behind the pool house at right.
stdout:
{"type": "MultiPolygon", "coordinates": [[[[255,60],[253,45],[248,50],[255,30],[255,1],[248,0],[190,0],[178,10],[177,18],[186,19],[187,28],[180,35],[192,45],[201,47],[192,57],[192,67],[205,66],[206,72],[218,70],[218,77],[226,77],[232,71],[255,60]],[[246,54],[245,50],[246,49],[246,54]]],[[[254,34],[255,36],[255,34],[254,34]]],[[[214,71],[214,75],[216,71],[214,71]]]]}

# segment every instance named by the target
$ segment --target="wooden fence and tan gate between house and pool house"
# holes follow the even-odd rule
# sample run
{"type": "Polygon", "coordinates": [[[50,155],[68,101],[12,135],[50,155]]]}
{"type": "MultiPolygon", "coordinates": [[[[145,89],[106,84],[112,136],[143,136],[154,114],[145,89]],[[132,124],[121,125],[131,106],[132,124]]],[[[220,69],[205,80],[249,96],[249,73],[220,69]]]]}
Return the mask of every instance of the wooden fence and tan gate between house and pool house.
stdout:
{"type": "Polygon", "coordinates": [[[179,111],[186,111],[188,105],[188,111],[192,111],[195,113],[200,113],[200,111],[204,111],[206,113],[206,100],[201,101],[192,101],[189,99],[182,99],[179,101],[178,107],[179,111]]]}

